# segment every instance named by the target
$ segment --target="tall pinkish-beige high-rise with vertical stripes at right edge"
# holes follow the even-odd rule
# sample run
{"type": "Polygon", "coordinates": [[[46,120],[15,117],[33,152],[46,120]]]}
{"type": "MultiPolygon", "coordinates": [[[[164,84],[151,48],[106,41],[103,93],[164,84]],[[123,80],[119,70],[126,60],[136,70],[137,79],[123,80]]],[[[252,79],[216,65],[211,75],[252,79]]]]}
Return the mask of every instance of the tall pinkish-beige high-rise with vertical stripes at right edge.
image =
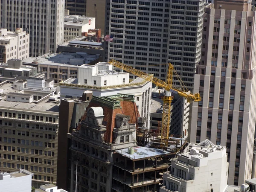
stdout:
{"type": "Polygon", "coordinates": [[[227,148],[228,183],[251,177],[255,131],[255,12],[250,3],[215,0],[205,8],[201,65],[194,92],[190,141],[208,138],[227,148]]]}

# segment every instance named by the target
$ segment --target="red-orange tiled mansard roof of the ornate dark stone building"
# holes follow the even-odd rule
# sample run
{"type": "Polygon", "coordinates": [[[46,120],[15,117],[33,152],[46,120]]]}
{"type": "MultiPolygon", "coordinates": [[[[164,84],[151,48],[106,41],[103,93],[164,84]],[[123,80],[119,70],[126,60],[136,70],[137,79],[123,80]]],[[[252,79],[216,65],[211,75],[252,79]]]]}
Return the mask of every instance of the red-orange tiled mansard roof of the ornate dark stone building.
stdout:
{"type": "MultiPolygon", "coordinates": [[[[120,102],[119,106],[114,108],[106,105],[104,101],[93,100],[89,103],[84,115],[81,118],[81,122],[86,119],[87,111],[90,107],[102,107],[103,108],[103,122],[102,125],[106,126],[106,132],[104,134],[105,143],[113,143],[113,128],[115,127],[115,117],[117,113],[130,116],[129,123],[137,124],[137,119],[140,116],[134,99],[116,99],[120,102]]],[[[77,130],[81,129],[81,123],[79,123],[77,130]]]]}

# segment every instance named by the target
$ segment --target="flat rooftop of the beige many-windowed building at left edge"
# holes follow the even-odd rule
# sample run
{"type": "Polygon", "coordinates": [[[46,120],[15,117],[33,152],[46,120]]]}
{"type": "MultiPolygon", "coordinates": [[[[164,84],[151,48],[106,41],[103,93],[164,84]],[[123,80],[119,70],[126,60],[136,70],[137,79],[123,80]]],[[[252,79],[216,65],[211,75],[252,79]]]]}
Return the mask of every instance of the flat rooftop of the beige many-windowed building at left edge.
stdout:
{"type": "MultiPolygon", "coordinates": [[[[0,89],[3,89],[3,92],[6,93],[18,93],[20,90],[15,90],[12,83],[0,84],[0,89]]],[[[6,96],[0,96],[2,100],[0,101],[0,108],[19,108],[25,110],[36,110],[36,111],[51,111],[59,112],[59,104],[54,102],[47,102],[48,99],[44,99],[39,103],[25,103],[25,102],[9,102],[6,101],[6,96]]]]}

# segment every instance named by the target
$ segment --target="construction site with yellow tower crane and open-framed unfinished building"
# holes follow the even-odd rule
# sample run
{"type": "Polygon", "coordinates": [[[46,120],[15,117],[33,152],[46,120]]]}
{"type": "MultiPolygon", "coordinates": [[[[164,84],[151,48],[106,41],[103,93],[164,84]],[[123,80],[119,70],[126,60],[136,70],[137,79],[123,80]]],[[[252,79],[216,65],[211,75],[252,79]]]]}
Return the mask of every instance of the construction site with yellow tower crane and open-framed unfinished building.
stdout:
{"type": "Polygon", "coordinates": [[[158,121],[157,130],[143,128],[140,126],[143,120],[139,119],[136,128],[137,147],[116,150],[113,154],[115,163],[112,191],[159,191],[163,183],[163,172],[168,171],[169,161],[182,153],[187,143],[184,135],[176,135],[171,131],[172,94],[176,93],[194,102],[200,101],[201,97],[199,93],[191,94],[186,87],[183,90],[172,87],[172,74],[175,70],[171,64],[166,82],[117,61],[111,60],[110,64],[163,88],[163,96],[159,92],[163,100],[162,121],[158,121]]]}

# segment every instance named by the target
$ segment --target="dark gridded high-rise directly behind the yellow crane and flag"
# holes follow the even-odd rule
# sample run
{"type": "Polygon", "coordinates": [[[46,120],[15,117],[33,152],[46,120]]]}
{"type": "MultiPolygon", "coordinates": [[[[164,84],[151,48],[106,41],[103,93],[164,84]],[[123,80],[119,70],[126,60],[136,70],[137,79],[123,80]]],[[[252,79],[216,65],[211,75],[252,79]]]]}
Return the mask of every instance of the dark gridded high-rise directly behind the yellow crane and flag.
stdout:
{"type": "MultiPolygon", "coordinates": [[[[170,62],[192,90],[201,58],[204,6],[204,0],[111,0],[107,21],[114,40],[108,42],[108,59],[162,80],[170,62]]],[[[173,84],[180,86],[176,78],[173,84]]]]}

